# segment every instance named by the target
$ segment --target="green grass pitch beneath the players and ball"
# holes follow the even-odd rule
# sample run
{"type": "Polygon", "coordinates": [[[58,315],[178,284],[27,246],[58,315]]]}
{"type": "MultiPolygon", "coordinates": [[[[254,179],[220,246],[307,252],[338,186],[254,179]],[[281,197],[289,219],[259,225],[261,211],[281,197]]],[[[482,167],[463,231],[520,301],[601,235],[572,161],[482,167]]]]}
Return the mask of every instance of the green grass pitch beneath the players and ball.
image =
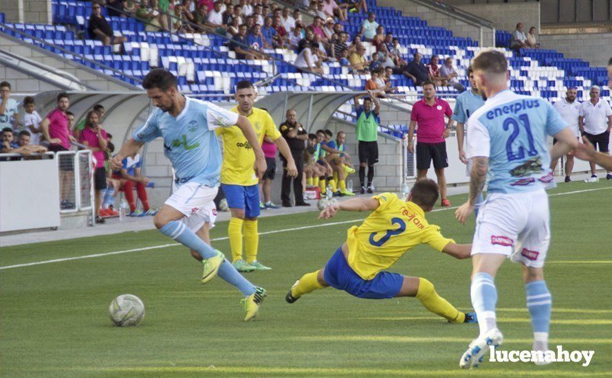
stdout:
{"type": "MultiPolygon", "coordinates": [[[[302,274],[325,265],[346,230],[365,214],[340,214],[336,225],[263,234],[259,258],[274,269],[247,274],[268,297],[245,323],[241,295],[219,278],[200,285],[201,265],[182,247],[162,247],[0,270],[1,377],[330,376],[612,376],[612,188],[609,182],[561,184],[550,194],[552,241],[545,273],[553,295],[551,346],[594,350],[588,367],[486,362],[459,369],[475,324],[447,324],[413,298],[359,300],[328,288],[285,302],[302,274]],[[587,192],[578,192],[589,190],[587,192]],[[137,327],[111,324],[112,298],[144,301],[137,327]]],[[[451,198],[459,205],[466,195],[451,198]]],[[[323,225],[315,212],[259,221],[260,232],[323,225]]],[[[472,240],[473,217],[428,214],[445,236],[472,240]]],[[[102,226],[103,227],[103,226],[102,226]]],[[[212,230],[227,234],[227,223],[212,230]]],[[[104,254],[172,243],[153,230],[0,248],[0,266],[104,254]]],[[[213,245],[230,256],[227,239],[213,245]]],[[[421,246],[392,271],[424,276],[459,309],[470,309],[470,260],[421,246]]],[[[531,348],[520,267],[505,263],[496,278],[503,348],[531,348]]]]}

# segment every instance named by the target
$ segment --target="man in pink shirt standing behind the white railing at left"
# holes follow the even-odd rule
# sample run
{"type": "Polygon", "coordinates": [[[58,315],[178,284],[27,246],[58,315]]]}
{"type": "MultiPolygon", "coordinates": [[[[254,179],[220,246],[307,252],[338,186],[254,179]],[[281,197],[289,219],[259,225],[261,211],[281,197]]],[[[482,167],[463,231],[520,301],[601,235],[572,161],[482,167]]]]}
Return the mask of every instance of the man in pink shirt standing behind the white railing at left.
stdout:
{"type": "MultiPolygon", "coordinates": [[[[70,100],[66,93],[57,95],[57,107],[41,121],[41,129],[45,140],[49,142],[49,151],[68,151],[71,142],[76,139],[70,133],[70,125],[66,111],[70,100]]],[[[60,208],[62,210],[74,209],[75,205],[69,199],[74,199],[74,156],[60,155],[60,208]]]]}

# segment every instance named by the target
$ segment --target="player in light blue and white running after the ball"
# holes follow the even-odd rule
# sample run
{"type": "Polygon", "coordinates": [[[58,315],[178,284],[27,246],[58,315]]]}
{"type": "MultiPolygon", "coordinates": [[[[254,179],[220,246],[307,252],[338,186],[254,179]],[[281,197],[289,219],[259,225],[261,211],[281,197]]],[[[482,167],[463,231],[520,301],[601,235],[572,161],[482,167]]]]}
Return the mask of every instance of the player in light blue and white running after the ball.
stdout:
{"type": "Polygon", "coordinates": [[[178,188],[157,212],[153,223],[162,234],[200,254],[204,265],[202,283],[218,274],[237,287],[245,296],[245,321],[251,320],[259,311],[265,290],[245,280],[221,252],[204,243],[195,234],[197,230],[190,229],[187,220],[206,210],[217,195],[221,172],[217,127],[236,125],[241,129],[255,153],[255,173],[261,177],[266,168],[265,158],[253,128],[242,115],[183,96],[175,76],[165,69],[150,71],[142,87],[157,109],[111,159],[111,167],[121,168],[122,160],[137,152],[144,143],[157,137],[164,139],[164,154],[172,162],[178,188]]]}

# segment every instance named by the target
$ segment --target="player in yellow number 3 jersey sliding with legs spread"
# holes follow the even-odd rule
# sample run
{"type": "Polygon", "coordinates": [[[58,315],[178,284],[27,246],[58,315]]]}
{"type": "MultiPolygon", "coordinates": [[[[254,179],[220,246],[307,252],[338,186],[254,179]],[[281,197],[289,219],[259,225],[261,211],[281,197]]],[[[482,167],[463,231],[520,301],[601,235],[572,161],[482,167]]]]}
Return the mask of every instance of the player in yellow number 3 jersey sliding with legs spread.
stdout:
{"type": "Polygon", "coordinates": [[[471,244],[456,244],[430,225],[425,213],[432,210],[439,197],[435,181],[417,181],[402,201],[393,193],[371,198],[349,199],[329,205],[319,218],[329,219],[339,210],[371,211],[361,225],[349,228],[342,243],[325,268],[300,278],[285,300],[293,303],[306,293],[325,287],[344,290],[367,299],[416,297],[429,311],[451,323],[475,323],[475,313],[463,313],[436,293],[426,278],[408,277],[384,271],[419,244],[427,244],[455,258],[470,257],[471,244]]]}

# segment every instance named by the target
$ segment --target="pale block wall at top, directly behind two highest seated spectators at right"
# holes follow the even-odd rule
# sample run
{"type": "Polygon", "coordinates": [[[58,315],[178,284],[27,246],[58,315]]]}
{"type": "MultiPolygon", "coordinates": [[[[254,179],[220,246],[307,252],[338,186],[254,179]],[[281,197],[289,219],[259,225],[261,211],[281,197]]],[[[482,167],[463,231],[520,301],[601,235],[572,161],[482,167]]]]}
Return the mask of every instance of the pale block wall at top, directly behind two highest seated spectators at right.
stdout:
{"type": "Polygon", "coordinates": [[[522,22],[525,33],[529,32],[529,27],[532,26],[535,26],[540,32],[540,3],[538,2],[467,5],[460,3],[461,1],[457,1],[457,4],[455,1],[450,2],[455,8],[488,19],[496,29],[512,32],[516,29],[516,24],[522,22]]]}

